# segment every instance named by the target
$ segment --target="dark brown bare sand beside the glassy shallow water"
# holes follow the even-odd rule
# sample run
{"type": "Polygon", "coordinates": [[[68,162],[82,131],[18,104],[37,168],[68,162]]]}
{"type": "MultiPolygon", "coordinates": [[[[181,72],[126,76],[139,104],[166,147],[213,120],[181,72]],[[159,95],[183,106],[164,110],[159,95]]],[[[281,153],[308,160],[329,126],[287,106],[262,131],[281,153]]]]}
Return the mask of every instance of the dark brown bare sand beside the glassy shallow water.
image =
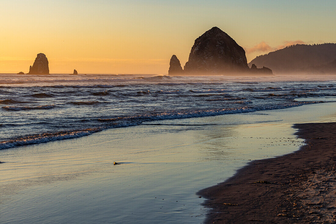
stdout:
{"type": "Polygon", "coordinates": [[[307,145],[253,161],[235,176],[198,192],[206,223],[335,223],[336,123],[296,124],[307,145]]]}

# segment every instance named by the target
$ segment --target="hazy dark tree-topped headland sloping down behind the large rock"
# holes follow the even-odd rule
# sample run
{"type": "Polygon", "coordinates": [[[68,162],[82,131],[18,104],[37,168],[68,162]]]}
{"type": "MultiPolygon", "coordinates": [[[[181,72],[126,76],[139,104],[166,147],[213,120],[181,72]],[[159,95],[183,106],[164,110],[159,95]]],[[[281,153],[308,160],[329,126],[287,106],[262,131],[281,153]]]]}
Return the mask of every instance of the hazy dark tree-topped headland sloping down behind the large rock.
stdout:
{"type": "Polygon", "coordinates": [[[249,65],[267,66],[275,74],[281,73],[335,73],[332,62],[336,60],[336,44],[296,44],[260,55],[249,65]],[[330,63],[330,64],[329,64],[330,63]]]}

